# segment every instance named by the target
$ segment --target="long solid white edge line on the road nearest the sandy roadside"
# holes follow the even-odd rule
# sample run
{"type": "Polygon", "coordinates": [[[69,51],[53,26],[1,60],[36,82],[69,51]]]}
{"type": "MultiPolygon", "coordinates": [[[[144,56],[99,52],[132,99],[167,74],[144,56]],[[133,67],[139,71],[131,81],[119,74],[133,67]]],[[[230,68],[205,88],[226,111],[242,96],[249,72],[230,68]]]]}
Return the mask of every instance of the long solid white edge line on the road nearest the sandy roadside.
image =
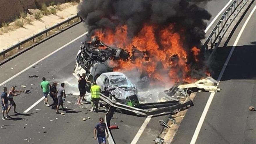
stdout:
{"type": "Polygon", "coordinates": [[[15,77],[17,77],[18,75],[22,74],[22,73],[25,72],[26,70],[30,69],[31,67],[33,67],[33,66],[36,65],[37,63],[40,63],[42,60],[44,60],[44,59],[48,58],[49,56],[53,55],[53,54],[56,53],[57,51],[63,49],[63,48],[66,47],[67,45],[70,45],[72,42],[74,42],[74,41],[76,41],[77,39],[83,37],[83,36],[86,35],[87,33],[88,33],[88,32],[86,32],[86,33],[80,35],[79,37],[75,38],[74,40],[72,40],[72,41],[68,42],[67,44],[63,45],[62,47],[56,49],[56,50],[53,51],[51,54],[48,54],[47,56],[41,58],[39,61],[33,63],[33,64],[30,65],[29,67],[27,67],[27,68],[25,68],[24,70],[18,72],[18,73],[15,74],[14,76],[12,76],[12,77],[10,77],[9,79],[7,79],[6,81],[2,82],[2,83],[0,84],[0,86],[3,86],[5,83],[7,83],[7,82],[9,82],[10,80],[14,79],[15,77]]]}

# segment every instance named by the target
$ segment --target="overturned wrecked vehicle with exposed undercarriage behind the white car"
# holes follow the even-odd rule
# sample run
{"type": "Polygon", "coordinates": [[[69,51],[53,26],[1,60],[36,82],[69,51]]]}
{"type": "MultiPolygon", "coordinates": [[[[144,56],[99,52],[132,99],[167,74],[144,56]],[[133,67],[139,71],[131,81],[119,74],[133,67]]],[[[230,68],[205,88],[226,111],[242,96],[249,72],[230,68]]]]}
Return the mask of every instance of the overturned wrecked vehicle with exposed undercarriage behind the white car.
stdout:
{"type": "Polygon", "coordinates": [[[77,53],[74,75],[86,73],[89,80],[95,81],[102,73],[112,72],[110,60],[127,60],[129,53],[121,48],[105,45],[95,37],[91,43],[83,42],[77,53]]]}

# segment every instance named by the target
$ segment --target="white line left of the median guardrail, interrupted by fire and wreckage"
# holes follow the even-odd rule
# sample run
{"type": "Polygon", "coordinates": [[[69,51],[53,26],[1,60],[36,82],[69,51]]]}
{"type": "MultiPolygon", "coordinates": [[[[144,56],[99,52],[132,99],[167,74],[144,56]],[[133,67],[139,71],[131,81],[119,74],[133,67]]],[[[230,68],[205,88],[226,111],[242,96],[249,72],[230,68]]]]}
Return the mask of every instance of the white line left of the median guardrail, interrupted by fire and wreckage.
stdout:
{"type": "MultiPolygon", "coordinates": [[[[207,28],[205,29],[205,33],[209,30],[209,28],[211,27],[211,25],[216,21],[216,19],[219,17],[219,15],[227,8],[227,6],[229,6],[229,4],[232,2],[233,0],[230,0],[225,6],[224,8],[218,13],[218,15],[216,15],[216,17],[211,21],[211,23],[207,26],[207,28]]],[[[133,140],[131,141],[131,144],[136,144],[139,140],[139,138],[141,137],[141,134],[143,133],[143,131],[146,129],[147,124],[150,122],[151,117],[150,118],[146,118],[145,121],[143,122],[143,124],[141,125],[140,129],[138,130],[137,134],[135,135],[135,137],[133,138],[133,140]]]]}

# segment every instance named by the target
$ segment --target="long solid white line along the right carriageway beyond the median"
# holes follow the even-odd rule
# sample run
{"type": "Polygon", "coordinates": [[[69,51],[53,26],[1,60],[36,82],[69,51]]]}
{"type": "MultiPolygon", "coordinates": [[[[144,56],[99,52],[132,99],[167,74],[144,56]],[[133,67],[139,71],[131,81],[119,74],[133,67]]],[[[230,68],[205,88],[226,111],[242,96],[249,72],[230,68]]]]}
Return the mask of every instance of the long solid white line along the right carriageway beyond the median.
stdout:
{"type": "MultiPolygon", "coordinates": [[[[245,23],[243,24],[243,27],[242,27],[242,29],[240,30],[240,32],[239,32],[239,34],[238,34],[238,36],[237,36],[237,39],[235,40],[234,45],[233,45],[233,47],[232,47],[232,49],[231,49],[229,55],[227,56],[227,59],[226,59],[224,65],[223,65],[223,67],[222,67],[221,73],[220,73],[220,75],[219,75],[219,77],[218,77],[218,79],[217,79],[218,85],[219,85],[219,83],[220,83],[220,81],[221,81],[221,78],[222,78],[223,73],[224,73],[224,71],[225,71],[225,69],[226,69],[226,67],[227,67],[227,64],[228,64],[228,62],[229,62],[229,60],[230,60],[230,58],[231,58],[231,56],[232,56],[232,53],[233,53],[235,47],[237,46],[237,43],[238,43],[238,41],[239,41],[239,39],[240,39],[240,37],[241,37],[241,35],[242,35],[242,33],[243,33],[243,30],[245,29],[245,27],[246,27],[247,23],[249,22],[250,18],[252,17],[252,15],[253,15],[255,9],[256,9],[256,6],[253,8],[253,10],[251,11],[250,15],[248,16],[248,18],[246,19],[245,23]]],[[[210,107],[210,105],[211,105],[212,99],[214,98],[214,95],[215,95],[215,93],[211,93],[211,94],[210,94],[210,97],[209,97],[209,99],[208,99],[208,101],[207,101],[207,103],[206,103],[206,105],[205,105],[205,109],[204,109],[204,111],[203,111],[203,113],[202,113],[202,115],[201,115],[201,117],[200,117],[200,120],[199,120],[199,122],[198,122],[198,125],[196,126],[195,132],[194,132],[193,137],[192,137],[192,139],[191,139],[191,141],[190,141],[190,144],[195,144],[195,142],[196,142],[196,140],[197,140],[198,134],[199,134],[199,132],[200,132],[200,130],[201,130],[201,127],[202,127],[203,122],[204,122],[204,120],[205,120],[206,114],[207,114],[208,109],[209,109],[209,107],[210,107]]]]}

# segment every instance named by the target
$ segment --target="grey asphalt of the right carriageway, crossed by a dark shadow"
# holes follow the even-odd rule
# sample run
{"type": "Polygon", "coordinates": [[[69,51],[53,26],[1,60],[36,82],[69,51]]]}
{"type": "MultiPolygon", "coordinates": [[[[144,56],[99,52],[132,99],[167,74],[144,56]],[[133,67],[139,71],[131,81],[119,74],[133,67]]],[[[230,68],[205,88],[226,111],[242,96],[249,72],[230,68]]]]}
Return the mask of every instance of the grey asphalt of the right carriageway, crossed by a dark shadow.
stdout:
{"type": "MultiPolygon", "coordinates": [[[[213,64],[215,79],[218,78],[238,34],[255,5],[256,2],[254,1],[231,35],[227,45],[217,50],[215,63],[213,64]]],[[[255,26],[256,12],[248,21],[237,46],[234,48],[230,61],[227,63],[219,84],[222,90],[215,94],[211,102],[196,139],[196,144],[256,143],[256,113],[248,111],[249,106],[256,105],[255,26]]],[[[173,144],[191,143],[208,98],[209,94],[206,93],[196,95],[193,101],[195,106],[188,110],[174,137],[173,144]]]]}

